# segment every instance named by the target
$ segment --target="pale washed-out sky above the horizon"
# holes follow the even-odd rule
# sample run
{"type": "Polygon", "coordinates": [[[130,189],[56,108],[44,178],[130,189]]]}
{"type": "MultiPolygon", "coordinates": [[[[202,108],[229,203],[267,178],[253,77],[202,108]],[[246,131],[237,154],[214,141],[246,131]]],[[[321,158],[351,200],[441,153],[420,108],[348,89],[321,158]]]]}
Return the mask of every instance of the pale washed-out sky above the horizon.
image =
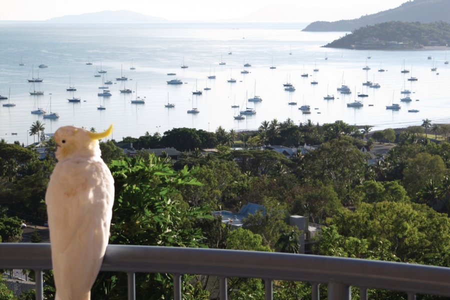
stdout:
{"type": "Polygon", "coordinates": [[[131,10],[169,21],[310,22],[356,18],[406,0],[0,0],[0,20],[46,20],[102,10],[131,10]],[[376,5],[374,4],[376,2],[376,5]]]}

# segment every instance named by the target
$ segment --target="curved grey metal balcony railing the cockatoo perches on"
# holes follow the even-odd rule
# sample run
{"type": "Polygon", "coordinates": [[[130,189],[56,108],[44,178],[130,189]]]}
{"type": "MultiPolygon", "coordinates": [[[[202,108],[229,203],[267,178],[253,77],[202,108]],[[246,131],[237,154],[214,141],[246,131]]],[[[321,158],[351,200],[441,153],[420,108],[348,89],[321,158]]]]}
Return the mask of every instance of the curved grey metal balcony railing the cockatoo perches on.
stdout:
{"type": "MultiPolygon", "coordinates": [[[[0,243],[0,268],[34,269],[36,299],[42,299],[42,270],[51,269],[50,244],[0,243]]],[[[415,294],[450,296],[450,268],[366,259],[305,254],[134,245],[108,245],[103,271],[128,274],[128,299],[135,299],[135,272],[173,274],[173,298],[181,299],[181,275],[204,274],[220,278],[220,299],[227,299],[226,278],[262,278],[265,299],[272,299],[273,280],[310,282],[312,299],[319,284],[328,285],[329,299],[349,299],[350,286],[415,294]]]]}

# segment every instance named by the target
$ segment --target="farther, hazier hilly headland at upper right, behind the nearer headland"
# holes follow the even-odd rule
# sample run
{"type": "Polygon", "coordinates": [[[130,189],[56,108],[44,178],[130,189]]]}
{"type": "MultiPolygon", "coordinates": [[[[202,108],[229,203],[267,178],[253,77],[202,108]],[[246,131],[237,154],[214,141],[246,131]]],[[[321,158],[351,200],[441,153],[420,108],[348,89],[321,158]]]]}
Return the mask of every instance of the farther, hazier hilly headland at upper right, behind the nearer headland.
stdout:
{"type": "Polygon", "coordinates": [[[357,19],[334,22],[315,21],[307,25],[302,31],[352,31],[362,26],[389,21],[450,22],[449,11],[450,0],[414,0],[405,2],[392,9],[363,15],[357,19]]]}

